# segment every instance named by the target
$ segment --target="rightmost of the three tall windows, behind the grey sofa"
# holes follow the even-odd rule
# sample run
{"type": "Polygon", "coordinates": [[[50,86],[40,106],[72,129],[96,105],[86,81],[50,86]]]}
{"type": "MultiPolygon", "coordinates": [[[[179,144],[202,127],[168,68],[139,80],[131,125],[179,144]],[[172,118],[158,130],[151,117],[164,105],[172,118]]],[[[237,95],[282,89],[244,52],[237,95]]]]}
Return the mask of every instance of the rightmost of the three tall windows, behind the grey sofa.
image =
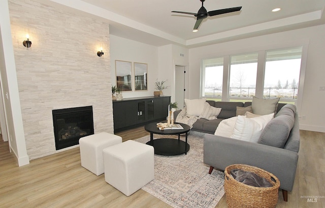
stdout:
{"type": "Polygon", "coordinates": [[[266,52],[264,98],[297,100],[302,47],[266,52]]]}

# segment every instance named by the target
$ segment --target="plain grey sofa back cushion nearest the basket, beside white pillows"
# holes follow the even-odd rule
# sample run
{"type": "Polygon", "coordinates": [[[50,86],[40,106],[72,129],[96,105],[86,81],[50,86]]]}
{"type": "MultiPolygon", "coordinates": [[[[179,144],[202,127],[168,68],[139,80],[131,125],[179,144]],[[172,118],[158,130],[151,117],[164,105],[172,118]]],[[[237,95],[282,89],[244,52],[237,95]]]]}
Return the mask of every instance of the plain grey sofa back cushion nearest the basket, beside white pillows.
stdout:
{"type": "Polygon", "coordinates": [[[295,113],[282,108],[262,131],[258,143],[283,148],[295,123],[295,113]]]}

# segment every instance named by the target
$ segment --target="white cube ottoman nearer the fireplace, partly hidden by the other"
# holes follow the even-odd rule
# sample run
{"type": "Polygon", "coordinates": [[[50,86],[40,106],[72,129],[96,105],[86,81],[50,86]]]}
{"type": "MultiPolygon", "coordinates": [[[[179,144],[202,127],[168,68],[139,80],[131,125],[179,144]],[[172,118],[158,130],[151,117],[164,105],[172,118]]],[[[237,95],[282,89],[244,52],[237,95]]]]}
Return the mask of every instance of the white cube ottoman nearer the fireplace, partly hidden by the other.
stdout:
{"type": "Polygon", "coordinates": [[[118,143],[122,143],[122,137],[106,132],[81,137],[79,139],[81,166],[96,175],[103,174],[103,150],[118,143]]]}

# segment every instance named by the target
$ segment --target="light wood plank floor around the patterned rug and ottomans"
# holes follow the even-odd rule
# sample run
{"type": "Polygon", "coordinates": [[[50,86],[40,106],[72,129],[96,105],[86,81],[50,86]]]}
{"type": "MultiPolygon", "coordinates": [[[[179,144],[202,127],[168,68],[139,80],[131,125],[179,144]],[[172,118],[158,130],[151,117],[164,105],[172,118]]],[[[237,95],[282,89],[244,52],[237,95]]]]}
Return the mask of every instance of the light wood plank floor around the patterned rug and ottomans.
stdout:
{"type": "MultiPolygon", "coordinates": [[[[123,141],[148,135],[143,127],[117,133],[123,141]]],[[[143,190],[126,197],[81,167],[79,147],[18,167],[0,138],[0,207],[171,207],[143,190]]],[[[325,207],[325,133],[301,131],[299,166],[288,202],[277,207],[325,207]],[[307,202],[305,196],[320,196],[307,202]],[[315,201],[315,199],[313,200],[315,201]]],[[[226,207],[225,196],[216,207],[226,207]]]]}

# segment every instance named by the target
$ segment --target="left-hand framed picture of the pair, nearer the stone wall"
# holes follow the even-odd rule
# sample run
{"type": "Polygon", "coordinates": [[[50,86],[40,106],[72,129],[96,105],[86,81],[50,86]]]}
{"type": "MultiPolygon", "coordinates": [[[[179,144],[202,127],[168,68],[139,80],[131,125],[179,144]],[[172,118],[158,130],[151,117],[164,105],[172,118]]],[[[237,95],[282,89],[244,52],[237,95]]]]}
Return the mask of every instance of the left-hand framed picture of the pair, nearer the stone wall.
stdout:
{"type": "Polygon", "coordinates": [[[132,62],[115,60],[116,87],[121,91],[132,91],[132,62]]]}

